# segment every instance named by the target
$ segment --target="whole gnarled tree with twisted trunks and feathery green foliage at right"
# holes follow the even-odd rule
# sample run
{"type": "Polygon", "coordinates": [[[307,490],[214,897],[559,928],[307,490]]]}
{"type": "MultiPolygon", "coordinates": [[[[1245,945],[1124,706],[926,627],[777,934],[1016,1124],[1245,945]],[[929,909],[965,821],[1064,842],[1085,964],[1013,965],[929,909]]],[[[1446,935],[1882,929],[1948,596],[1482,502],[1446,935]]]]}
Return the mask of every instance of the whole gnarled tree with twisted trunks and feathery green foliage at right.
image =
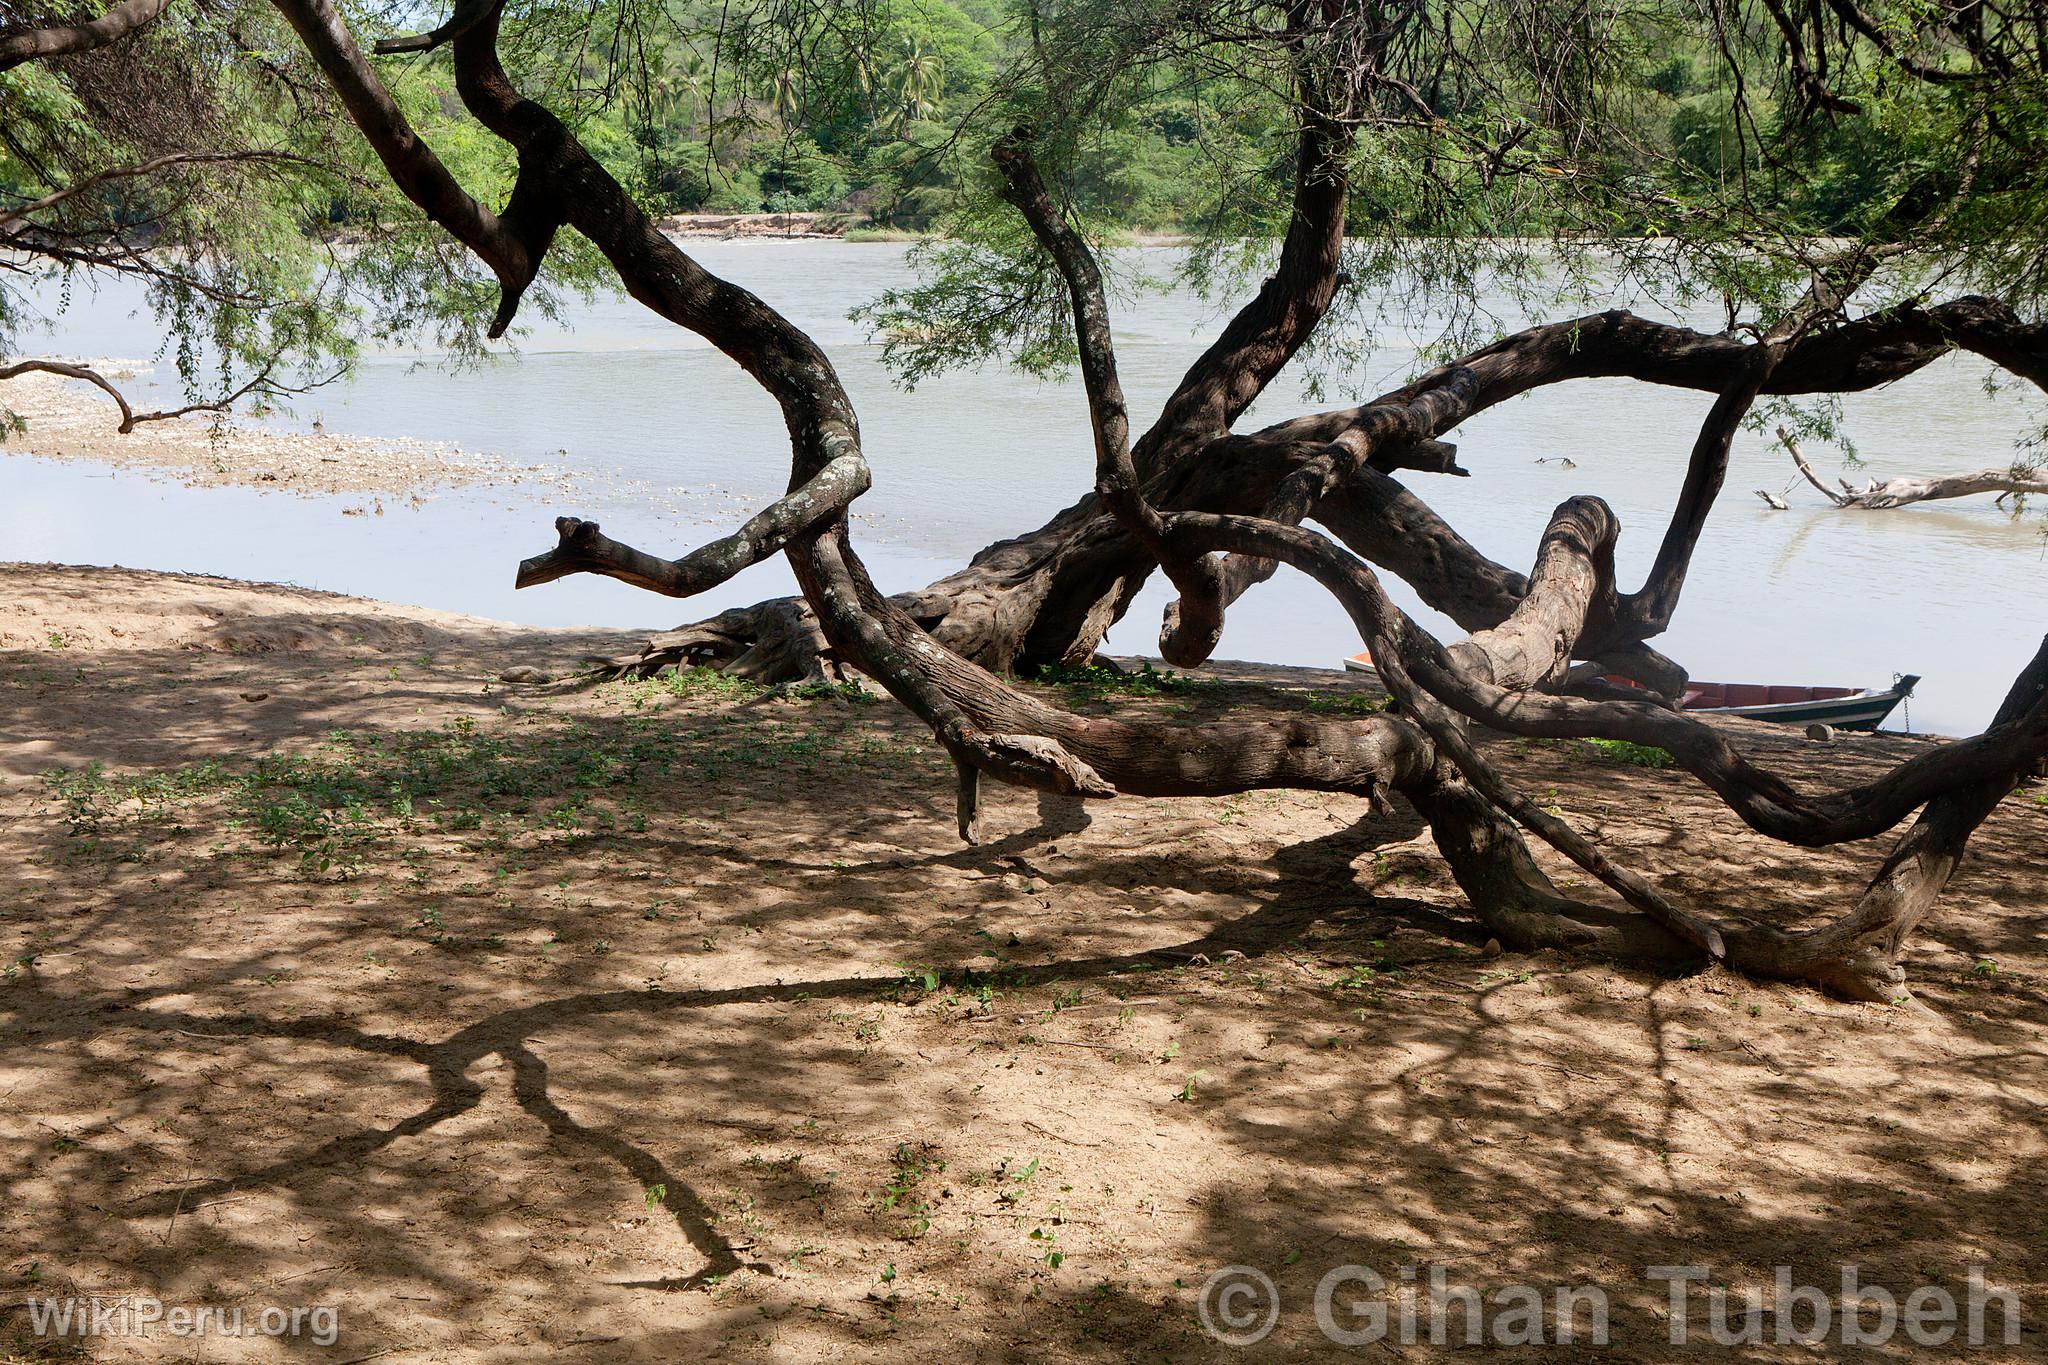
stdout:
{"type": "MultiPolygon", "coordinates": [[[[502,55],[516,10],[461,0],[432,33],[377,45],[395,57],[444,55],[467,113],[512,149],[516,180],[494,211],[422,141],[334,0],[274,6],[389,180],[496,276],[494,327],[512,319],[561,231],[573,229],[629,295],[711,340],[782,409],[788,493],[735,534],[664,559],[565,518],[559,542],[520,565],[520,583],[602,573],[686,598],[784,555],[803,604],[727,614],[657,643],[637,665],[723,655],[766,675],[805,671],[821,657],[860,669],[952,755],[967,839],[979,837],[985,780],[1087,798],[1257,788],[1399,794],[1430,823],[1475,915],[1505,943],[1718,958],[1757,976],[1884,1001],[1905,997],[1901,950],[1970,833],[2048,753],[2048,641],[1989,731],[1874,782],[1821,792],[1757,767],[1720,729],[1677,710],[1683,669],[1651,647],[1679,606],[1731,440],[1759,399],[1868,389],[1958,348],[2030,383],[2048,381],[2048,329],[2013,307],[2034,297],[2040,244],[1985,235],[1999,215],[2025,211],[2023,184],[2038,170],[2036,125],[2011,106],[2025,84],[2017,76],[2038,88],[2032,18],[1919,8],[1870,16],[1823,0],[1772,2],[1755,14],[1731,4],[1671,14],[1532,6],[1520,16],[1528,23],[1505,23],[1483,4],[1419,0],[1026,4],[1016,74],[983,111],[985,129],[961,127],[963,141],[985,131],[991,201],[1016,233],[965,241],[950,276],[942,270],[932,293],[897,305],[938,317],[920,336],[954,358],[985,354],[991,336],[1071,352],[1092,417],[1094,491],[1044,528],[989,546],[958,575],[885,598],[848,534],[848,508],[872,473],[829,358],[766,301],[666,237],[575,131],[522,90],[502,55]],[[1642,55],[1642,25],[1653,37],[1694,25],[1706,59],[1729,80],[1733,162],[1716,174],[1636,147],[1616,115],[1618,90],[1630,88],[1616,86],[1616,74],[1642,55]],[[1165,74],[1264,92],[1284,117],[1284,225],[1264,282],[1151,426],[1133,434],[1102,256],[1063,186],[1087,131],[1114,119],[1130,82],[1165,74]],[[1769,127],[1755,82],[1776,96],[1769,127]],[[1903,182],[1847,241],[1819,244],[1804,209],[1763,194],[1759,182],[1808,156],[1812,139],[1829,135],[1819,125],[1896,104],[1898,90],[1939,92],[1927,137],[1960,139],[1958,156],[1903,182]],[[1393,180],[1411,192],[1407,205],[1386,201],[1393,180]],[[1364,233],[1348,233],[1360,203],[1376,217],[1364,233]],[[1726,327],[1706,334],[1597,311],[1477,346],[1360,405],[1235,430],[1329,319],[1356,307],[1360,270],[1393,272],[1389,244],[1430,229],[1432,241],[1450,244],[1452,270],[1470,266],[1458,256],[1470,241],[1460,233],[1483,215],[1493,227],[1542,217],[1565,260],[1585,231],[1671,229],[1651,246],[1608,250],[1614,239],[1604,237],[1599,268],[1610,278],[1663,270],[1710,282],[1729,301],[1726,327]],[[1937,299],[1927,287],[1993,276],[2013,284],[2005,297],[1937,299]],[[1872,293],[1882,295],[1878,305],[1855,305],[1872,293]],[[1683,485],[1636,589],[1616,581],[1622,528],[1599,499],[1565,501],[1520,573],[1479,555],[1401,481],[1409,471],[1464,473],[1442,438],[1473,413],[1593,377],[1712,395],[1690,450],[1673,452],[1683,485]],[[1395,710],[1133,722],[1065,712],[1006,677],[1020,665],[1087,657],[1155,569],[1178,591],[1161,649],[1200,665],[1231,604],[1276,563],[1343,604],[1395,710]],[[1380,573],[1405,579],[1468,634],[1450,645],[1434,639],[1389,600],[1380,573]],[[1575,692],[1573,661],[1597,661],[1645,690],[1636,700],[1612,688],[1575,692]],[[1475,745],[1475,724],[1657,745],[1749,827],[1798,845],[1911,825],[1843,917],[1790,931],[1745,907],[1673,902],[1518,792],[1475,745]],[[1550,882],[1530,855],[1530,835],[1614,900],[1589,902],[1550,882]]],[[[801,14],[786,20],[799,25],[801,14]]]]}

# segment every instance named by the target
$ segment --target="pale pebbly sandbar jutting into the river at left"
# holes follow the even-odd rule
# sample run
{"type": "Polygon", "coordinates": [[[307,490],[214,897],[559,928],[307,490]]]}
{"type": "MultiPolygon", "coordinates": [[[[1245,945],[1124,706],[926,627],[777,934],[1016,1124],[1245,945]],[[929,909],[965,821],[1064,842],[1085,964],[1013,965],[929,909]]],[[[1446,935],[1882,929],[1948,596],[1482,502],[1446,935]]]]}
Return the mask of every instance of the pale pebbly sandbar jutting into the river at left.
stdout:
{"type": "MultiPolygon", "coordinates": [[[[150,366],[84,360],[123,391],[135,411],[184,405],[176,383],[150,366]]],[[[371,440],[330,432],[289,432],[256,417],[188,413],[145,422],[123,436],[121,411],[100,389],[55,375],[23,375],[0,385],[0,407],[27,422],[0,454],[98,460],[168,475],[186,487],[246,485],[287,493],[381,493],[428,497],[438,487],[559,481],[559,469],[520,465],[446,442],[371,440]]]]}

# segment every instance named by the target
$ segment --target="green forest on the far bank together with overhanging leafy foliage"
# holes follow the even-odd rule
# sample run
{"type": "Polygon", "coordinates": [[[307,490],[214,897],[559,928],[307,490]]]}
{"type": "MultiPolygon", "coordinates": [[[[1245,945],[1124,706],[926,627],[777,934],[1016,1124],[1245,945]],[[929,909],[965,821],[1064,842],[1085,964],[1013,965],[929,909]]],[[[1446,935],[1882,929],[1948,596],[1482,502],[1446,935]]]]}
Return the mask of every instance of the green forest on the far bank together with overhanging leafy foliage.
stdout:
{"type": "MultiPolygon", "coordinates": [[[[332,8],[453,180],[512,211],[516,153],[465,111],[449,45],[401,39],[420,6],[332,8]]],[[[35,12],[0,0],[0,41],[35,12]]],[[[1350,25],[1276,41],[1284,6],[1245,0],[494,12],[518,86],[647,211],[930,233],[920,284],[868,313],[909,379],[1071,360],[1065,284],[991,164],[1018,127],[1083,235],[1178,233],[1196,248],[1182,280],[1231,297],[1288,229],[1303,108],[1346,111],[1335,338],[1407,307],[1475,342],[1477,280],[1548,291],[1540,309],[1642,284],[1769,313],[1817,272],[1872,307],[1931,280],[2048,293],[2038,43],[1980,6],[1446,0],[1403,8],[1386,49],[1346,68],[1366,82],[1352,92],[1300,90],[1288,55],[1350,25]]],[[[0,354],[18,282],[92,268],[143,278],[193,393],[315,381],[367,336],[457,356],[489,340],[496,282],[395,192],[268,6],[172,8],[121,51],[0,61],[0,248],[20,262],[0,272],[0,354]]],[[[604,278],[565,233],[526,301],[545,313],[604,278]]]]}

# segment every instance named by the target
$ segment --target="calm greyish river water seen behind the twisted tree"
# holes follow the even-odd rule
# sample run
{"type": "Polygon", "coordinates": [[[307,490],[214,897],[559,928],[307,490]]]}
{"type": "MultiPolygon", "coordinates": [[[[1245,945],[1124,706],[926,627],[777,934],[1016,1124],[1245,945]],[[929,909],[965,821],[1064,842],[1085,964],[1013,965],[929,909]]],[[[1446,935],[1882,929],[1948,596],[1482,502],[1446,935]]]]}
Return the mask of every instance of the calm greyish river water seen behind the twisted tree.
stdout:
{"type": "MultiPolygon", "coordinates": [[[[901,246],[684,246],[788,313],[840,366],[874,467],[874,489],[858,503],[856,546],[885,589],[922,585],[1090,487],[1079,385],[999,368],[928,381],[915,393],[891,383],[881,348],[846,313],[909,280],[901,246]]],[[[1518,321],[1505,305],[1501,317],[1518,321]]],[[[1139,426],[1217,325],[1217,309],[1186,293],[1151,293],[1118,309],[1118,356],[1139,426]]],[[[1339,389],[1309,401],[1296,379],[1282,377],[1241,428],[1372,397],[1413,370],[1425,340],[1427,327],[1382,327],[1372,356],[1339,389]]],[[[106,287],[74,299],[41,344],[72,356],[145,358],[156,336],[135,297],[106,287]]],[[[2044,413],[2017,389],[1989,395],[1985,377],[1980,362],[1946,358],[1849,397],[1847,430],[1864,460],[1849,477],[2011,460],[2044,413]]],[[[1626,381],[1550,387],[1450,434],[1470,479],[1413,475],[1409,483],[1481,551],[1518,569],[1530,565],[1559,501],[1597,493],[1622,518],[1618,561],[1622,585],[1632,587],[1655,555],[1708,401],[1626,381]]],[[[483,368],[449,372],[434,356],[371,356],[350,381],[299,399],[279,420],[459,442],[559,467],[580,477],[582,491],[563,495],[551,481],[455,489],[420,508],[385,499],[381,516],[342,516],[367,499],[184,489],[102,465],[12,454],[0,463],[0,559],[291,581],[530,624],[668,626],[793,591],[782,561],[690,604],[588,577],[512,591],[514,563],[553,542],[555,516],[590,516],[623,540],[676,555],[784,487],[788,446],[774,403],[705,342],[631,301],[573,305],[567,325],[532,325],[516,356],[483,368]]],[[[1833,454],[1810,454],[1825,475],[1839,469],[1833,454]]],[[[1880,686],[1894,673],[1921,673],[1913,729],[1980,729],[2048,628],[2040,518],[2015,522],[1991,499],[1837,512],[1804,485],[1788,491],[1790,512],[1774,512],[1749,493],[1782,491],[1792,473],[1784,450],[1761,436],[1741,438],[1659,649],[1696,677],[1729,681],[1880,686]]],[[[1405,589],[1397,596],[1417,606],[1405,589]]],[[[1112,651],[1151,653],[1165,600],[1153,583],[1112,630],[1112,651]]],[[[1450,630],[1430,612],[1419,616],[1450,630]]],[[[1356,647],[1337,606],[1282,569],[1233,610],[1219,657],[1329,667],[1356,647]]],[[[1892,716],[1894,726],[1903,720],[1892,716]]]]}

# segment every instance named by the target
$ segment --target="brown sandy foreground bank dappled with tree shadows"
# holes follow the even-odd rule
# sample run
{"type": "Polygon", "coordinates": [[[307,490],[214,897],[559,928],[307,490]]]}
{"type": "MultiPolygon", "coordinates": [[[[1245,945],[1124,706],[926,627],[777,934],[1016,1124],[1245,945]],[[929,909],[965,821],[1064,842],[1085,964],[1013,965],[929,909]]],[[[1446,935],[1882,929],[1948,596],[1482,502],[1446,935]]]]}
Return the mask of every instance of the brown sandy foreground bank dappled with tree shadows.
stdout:
{"type": "MultiPolygon", "coordinates": [[[[999,792],[965,849],[891,702],[498,681],[616,643],[0,569],[0,1359],[1460,1353],[1427,1300],[1411,1345],[1399,1306],[1395,1340],[1331,1345],[1343,1265],[1595,1285],[1610,1347],[1489,1359],[1645,1363],[1958,1355],[1776,1318],[1716,1347],[1706,1289],[1853,1265],[1966,1302],[1982,1265],[2023,1334],[1991,1306],[1972,1359],[2048,1359],[2040,788],[1917,941],[1919,1017],[1489,958],[1405,810],[999,792]],[[1282,1306],[1245,1351],[1198,1314],[1231,1265],[1282,1306]],[[1657,1265],[1708,1267],[1686,1347],[1657,1265]],[[336,1332],[39,1334],[27,1300],[74,1293],[336,1332]]],[[[1128,704],[1352,696],[1286,681],[1128,704]]],[[[1735,733],[1812,780],[1925,743],[1735,733]]],[[[1819,915],[1878,855],[1581,747],[1495,753],[1696,902],[1819,915]]]]}

